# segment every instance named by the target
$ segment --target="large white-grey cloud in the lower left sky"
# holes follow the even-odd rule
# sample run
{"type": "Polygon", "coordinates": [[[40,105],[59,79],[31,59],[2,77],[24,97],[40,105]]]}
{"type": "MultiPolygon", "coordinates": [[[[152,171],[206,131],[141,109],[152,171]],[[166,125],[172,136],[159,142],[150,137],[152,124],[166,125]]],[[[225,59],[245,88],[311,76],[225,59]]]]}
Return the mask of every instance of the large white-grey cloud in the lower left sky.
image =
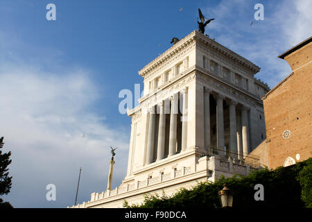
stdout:
{"type": "Polygon", "coordinates": [[[13,186],[3,198],[15,207],[72,205],[69,200],[83,167],[79,200],[87,201],[93,191],[105,190],[110,145],[119,147],[119,175],[114,181],[121,180],[129,133],[109,128],[105,117],[89,112],[100,97],[88,73],[73,69],[60,75],[30,66],[8,67],[0,71],[0,135],[6,150],[12,151],[13,186]],[[49,183],[57,187],[55,203],[45,200],[49,183]]]}

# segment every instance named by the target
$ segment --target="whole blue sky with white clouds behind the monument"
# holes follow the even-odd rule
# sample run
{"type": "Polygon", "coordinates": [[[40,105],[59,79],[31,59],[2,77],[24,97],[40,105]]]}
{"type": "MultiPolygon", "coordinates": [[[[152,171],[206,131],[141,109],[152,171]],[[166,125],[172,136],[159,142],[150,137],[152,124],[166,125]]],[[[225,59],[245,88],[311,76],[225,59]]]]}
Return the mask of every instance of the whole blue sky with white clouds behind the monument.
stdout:
{"type": "Polygon", "coordinates": [[[111,145],[119,147],[113,187],[120,185],[130,117],[119,113],[119,92],[143,86],[137,71],[172,37],[197,29],[198,8],[216,18],[206,33],[261,67],[256,77],[270,87],[291,73],[277,56],[311,36],[309,0],[1,0],[0,135],[13,176],[1,198],[14,207],[73,205],[83,167],[78,203],[87,201],[105,190],[111,145]],[[46,20],[48,3],[56,21],[46,20]],[[263,21],[254,20],[256,3],[263,21]],[[50,183],[56,201],[46,200],[50,183]]]}

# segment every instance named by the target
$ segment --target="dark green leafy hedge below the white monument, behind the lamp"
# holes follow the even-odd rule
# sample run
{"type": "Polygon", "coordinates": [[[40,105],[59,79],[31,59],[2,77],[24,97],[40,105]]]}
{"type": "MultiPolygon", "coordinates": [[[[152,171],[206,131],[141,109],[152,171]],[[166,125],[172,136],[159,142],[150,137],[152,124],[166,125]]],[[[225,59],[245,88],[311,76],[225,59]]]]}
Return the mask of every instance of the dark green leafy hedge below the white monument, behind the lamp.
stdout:
{"type": "Polygon", "coordinates": [[[200,182],[193,189],[180,189],[172,196],[146,194],[141,205],[128,208],[215,208],[220,207],[218,191],[226,183],[234,196],[233,207],[272,208],[272,207],[312,207],[312,159],[299,162],[290,167],[279,167],[274,171],[267,168],[254,171],[246,177],[221,176],[216,182],[200,182]],[[264,201],[254,200],[254,185],[264,187],[264,201]]]}

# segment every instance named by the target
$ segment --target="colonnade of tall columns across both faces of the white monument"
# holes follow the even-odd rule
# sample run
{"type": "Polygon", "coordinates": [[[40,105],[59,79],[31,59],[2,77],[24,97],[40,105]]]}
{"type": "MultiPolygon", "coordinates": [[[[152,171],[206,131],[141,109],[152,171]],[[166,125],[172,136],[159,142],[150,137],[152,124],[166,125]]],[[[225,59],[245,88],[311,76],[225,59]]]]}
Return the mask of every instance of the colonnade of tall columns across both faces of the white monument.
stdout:
{"type": "MultiPolygon", "coordinates": [[[[232,157],[239,160],[243,160],[243,157],[248,155],[248,110],[249,108],[245,105],[239,104],[233,99],[229,99],[223,94],[212,92],[211,89],[204,88],[204,138],[205,149],[211,151],[211,101],[210,94],[212,94],[216,101],[216,148],[218,150],[224,150],[225,148],[225,121],[224,121],[224,101],[227,103],[229,108],[229,153],[232,157]],[[237,108],[239,106],[239,108],[237,108]],[[236,110],[240,113],[236,114],[236,110]],[[240,117],[240,124],[237,123],[236,118],[240,117]]],[[[187,88],[182,91],[173,94],[169,100],[163,100],[157,104],[157,107],[148,109],[148,138],[146,146],[146,164],[150,164],[153,161],[159,161],[164,159],[165,147],[168,148],[168,157],[171,157],[177,153],[177,125],[182,124],[182,133],[180,136],[180,150],[185,151],[187,149],[187,110],[188,110],[188,98],[189,94],[187,88]],[[180,102],[179,102],[180,99],[180,102]],[[165,102],[166,101],[166,102],[165,102]],[[170,103],[168,104],[168,101],[170,103]],[[167,109],[165,104],[170,107],[167,109]],[[180,104],[180,105],[179,105],[180,104]],[[159,110],[159,112],[155,112],[159,110]],[[166,113],[166,110],[170,110],[170,113],[166,113]],[[159,117],[156,118],[156,115],[159,117]],[[166,114],[170,114],[169,124],[166,123],[166,114]],[[178,123],[178,115],[180,116],[181,123],[178,123]],[[156,121],[159,120],[159,121],[156,121]],[[166,128],[169,130],[166,130],[166,128]],[[155,133],[155,130],[158,130],[155,133]],[[166,133],[168,133],[168,141],[166,141],[166,133]],[[155,138],[157,135],[157,138],[155,138]],[[155,148],[157,151],[155,151],[155,148]],[[156,156],[155,156],[156,153],[156,156]]],[[[167,117],[168,118],[168,117],[167,117]]]]}

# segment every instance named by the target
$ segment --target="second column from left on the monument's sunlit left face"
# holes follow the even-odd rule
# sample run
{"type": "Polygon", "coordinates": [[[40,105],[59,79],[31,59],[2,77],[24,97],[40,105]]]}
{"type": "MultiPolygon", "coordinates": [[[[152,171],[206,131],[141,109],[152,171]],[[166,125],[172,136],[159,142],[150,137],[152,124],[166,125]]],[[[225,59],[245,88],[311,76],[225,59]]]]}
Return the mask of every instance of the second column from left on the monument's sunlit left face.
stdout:
{"type": "Polygon", "coordinates": [[[166,114],[164,113],[164,101],[159,106],[159,130],[157,142],[157,161],[164,158],[165,133],[166,133],[166,114]]]}

